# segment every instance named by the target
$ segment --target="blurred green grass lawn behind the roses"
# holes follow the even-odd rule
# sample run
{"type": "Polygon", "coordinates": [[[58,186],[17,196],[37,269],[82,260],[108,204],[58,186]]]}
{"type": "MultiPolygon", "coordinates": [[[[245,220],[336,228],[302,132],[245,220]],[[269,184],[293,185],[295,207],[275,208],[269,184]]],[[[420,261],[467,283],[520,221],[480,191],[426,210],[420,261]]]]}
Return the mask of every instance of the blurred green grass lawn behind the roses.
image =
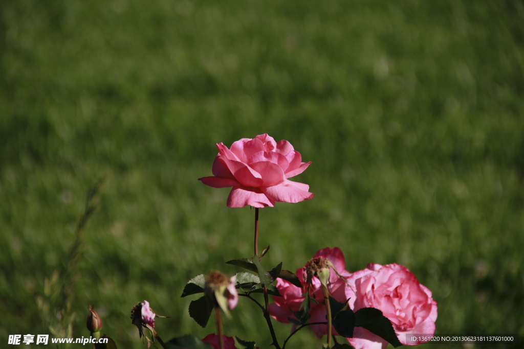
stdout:
{"type": "MultiPolygon", "coordinates": [[[[238,271],[254,211],[196,178],[215,143],[266,132],[313,162],[295,179],[315,193],[260,211],[268,267],[339,246],[349,271],[406,265],[438,333],[524,335],[522,1],[4,0],[0,34],[0,341],[49,333],[35,298],[102,175],[74,337],[92,304],[143,347],[144,299],[164,339],[214,332],[180,294],[238,271]]],[[[256,306],[233,316],[227,335],[269,345],[256,306]]],[[[302,332],[291,347],[320,347],[302,332]]]]}

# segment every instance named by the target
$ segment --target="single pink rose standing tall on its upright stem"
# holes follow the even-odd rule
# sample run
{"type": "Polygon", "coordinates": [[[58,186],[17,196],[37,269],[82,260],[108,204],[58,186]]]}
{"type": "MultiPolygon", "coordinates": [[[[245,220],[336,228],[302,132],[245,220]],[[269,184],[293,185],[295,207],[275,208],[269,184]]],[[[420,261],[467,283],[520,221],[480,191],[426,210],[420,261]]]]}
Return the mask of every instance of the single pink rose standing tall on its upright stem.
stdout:
{"type": "Polygon", "coordinates": [[[214,176],[199,178],[213,188],[233,187],[228,207],[273,207],[275,201],[300,202],[311,199],[309,185],[288,178],[304,172],[311,162],[285,140],[275,142],[267,133],[243,138],[231,145],[216,144],[219,154],[213,162],[214,176]]]}

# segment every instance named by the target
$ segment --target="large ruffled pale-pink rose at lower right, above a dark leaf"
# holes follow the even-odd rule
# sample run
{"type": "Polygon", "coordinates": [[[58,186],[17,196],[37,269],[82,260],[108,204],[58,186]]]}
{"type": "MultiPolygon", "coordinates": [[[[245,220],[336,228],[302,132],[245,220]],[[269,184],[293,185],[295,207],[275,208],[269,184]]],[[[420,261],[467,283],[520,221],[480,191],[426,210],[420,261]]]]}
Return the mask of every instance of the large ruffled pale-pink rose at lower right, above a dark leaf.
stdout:
{"type": "MultiPolygon", "coordinates": [[[[370,263],[366,269],[353,273],[348,282],[356,292],[350,307],[354,311],[365,307],[381,310],[402,344],[423,343],[408,344],[406,333],[435,333],[436,301],[405,266],[370,263]]],[[[361,327],[355,327],[353,338],[348,341],[356,349],[385,349],[388,345],[361,327]]]]}

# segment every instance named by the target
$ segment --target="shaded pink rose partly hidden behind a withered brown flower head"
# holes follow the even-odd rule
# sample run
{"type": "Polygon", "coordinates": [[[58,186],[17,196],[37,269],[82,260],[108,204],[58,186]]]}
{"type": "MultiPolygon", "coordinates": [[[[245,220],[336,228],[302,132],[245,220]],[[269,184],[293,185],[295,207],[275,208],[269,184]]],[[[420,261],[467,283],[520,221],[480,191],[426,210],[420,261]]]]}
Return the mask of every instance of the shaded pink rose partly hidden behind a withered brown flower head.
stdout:
{"type": "MultiPolygon", "coordinates": [[[[313,258],[325,257],[328,258],[331,263],[335,266],[337,272],[342,276],[338,276],[333,268],[330,267],[330,282],[328,284],[328,290],[333,298],[339,302],[345,302],[348,298],[354,297],[353,291],[346,285],[346,278],[351,274],[346,271],[346,263],[344,261],[344,254],[335,247],[330,249],[319,250],[315,253],[313,258]]],[[[269,313],[271,316],[280,322],[289,323],[288,317],[294,319],[293,313],[289,310],[298,311],[302,301],[305,299],[305,292],[308,291],[308,286],[304,282],[305,279],[305,267],[297,270],[297,277],[300,279],[302,288],[292,285],[291,283],[277,279],[277,288],[282,297],[273,297],[275,303],[269,305],[269,313]]],[[[317,277],[312,278],[312,288],[310,289],[310,295],[312,299],[315,299],[318,303],[311,302],[311,318],[309,322],[325,322],[326,320],[326,308],[322,304],[324,295],[322,292],[322,285],[317,277]]],[[[317,337],[322,337],[328,334],[327,325],[312,325],[311,329],[317,337]]],[[[338,335],[335,329],[332,329],[333,334],[338,335]]]]}

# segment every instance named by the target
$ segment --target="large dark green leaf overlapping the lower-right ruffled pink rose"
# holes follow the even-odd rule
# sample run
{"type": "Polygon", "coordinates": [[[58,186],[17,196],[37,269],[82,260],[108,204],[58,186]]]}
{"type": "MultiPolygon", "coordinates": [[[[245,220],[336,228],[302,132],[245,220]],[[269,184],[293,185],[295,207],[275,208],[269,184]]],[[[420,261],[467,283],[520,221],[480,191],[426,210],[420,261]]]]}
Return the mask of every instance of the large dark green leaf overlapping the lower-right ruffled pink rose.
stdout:
{"type": "MultiPolygon", "coordinates": [[[[355,326],[365,328],[397,347],[402,345],[398,340],[393,325],[384,314],[375,308],[362,308],[355,312],[355,326]]],[[[338,330],[337,330],[338,331],[338,330]]]]}

